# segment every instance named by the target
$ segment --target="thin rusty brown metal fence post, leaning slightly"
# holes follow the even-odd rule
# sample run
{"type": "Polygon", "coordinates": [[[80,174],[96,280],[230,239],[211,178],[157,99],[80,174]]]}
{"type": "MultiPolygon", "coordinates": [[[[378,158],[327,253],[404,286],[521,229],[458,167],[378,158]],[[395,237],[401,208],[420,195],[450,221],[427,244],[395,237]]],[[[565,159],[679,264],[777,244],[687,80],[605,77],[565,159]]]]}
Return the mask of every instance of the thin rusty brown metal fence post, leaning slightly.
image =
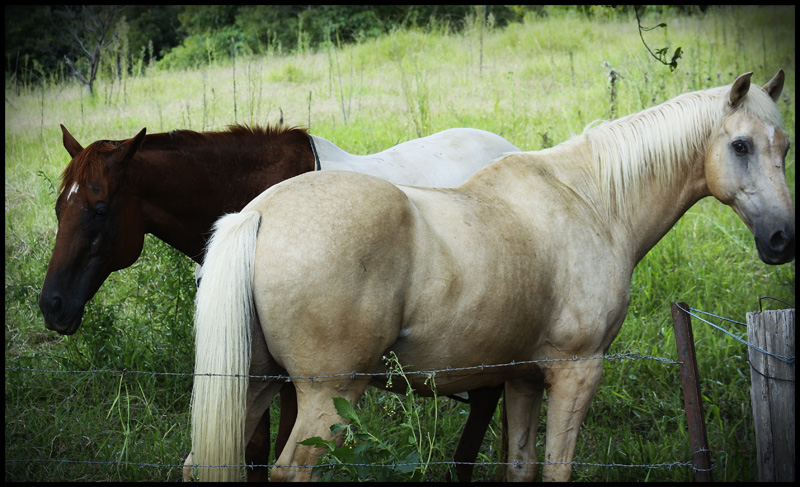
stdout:
{"type": "Polygon", "coordinates": [[[688,304],[672,303],[672,326],[675,329],[675,343],[678,346],[678,361],[681,362],[681,384],[683,401],[686,405],[689,445],[692,449],[694,481],[712,482],[711,450],[708,449],[703,398],[700,395],[700,377],[694,353],[692,320],[688,311],[688,304]]]}

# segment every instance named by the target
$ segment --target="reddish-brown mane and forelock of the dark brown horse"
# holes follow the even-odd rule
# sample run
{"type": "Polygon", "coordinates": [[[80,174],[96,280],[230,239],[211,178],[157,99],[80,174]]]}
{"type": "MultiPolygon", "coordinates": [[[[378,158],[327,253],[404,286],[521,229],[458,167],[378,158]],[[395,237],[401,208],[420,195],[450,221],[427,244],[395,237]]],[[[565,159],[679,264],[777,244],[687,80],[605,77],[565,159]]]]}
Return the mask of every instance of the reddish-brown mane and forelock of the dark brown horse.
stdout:
{"type": "MultiPolygon", "coordinates": [[[[301,127],[289,126],[249,126],[236,124],[228,126],[227,130],[195,132],[193,130],[172,130],[166,133],[148,134],[142,143],[142,148],[161,150],[187,150],[188,147],[198,147],[200,144],[209,144],[228,150],[241,150],[244,139],[259,140],[277,138],[291,135],[308,137],[308,130],[301,127]]],[[[85,184],[97,172],[106,170],[105,154],[116,149],[124,141],[98,140],[86,147],[61,173],[60,192],[73,183],[85,184]]]]}

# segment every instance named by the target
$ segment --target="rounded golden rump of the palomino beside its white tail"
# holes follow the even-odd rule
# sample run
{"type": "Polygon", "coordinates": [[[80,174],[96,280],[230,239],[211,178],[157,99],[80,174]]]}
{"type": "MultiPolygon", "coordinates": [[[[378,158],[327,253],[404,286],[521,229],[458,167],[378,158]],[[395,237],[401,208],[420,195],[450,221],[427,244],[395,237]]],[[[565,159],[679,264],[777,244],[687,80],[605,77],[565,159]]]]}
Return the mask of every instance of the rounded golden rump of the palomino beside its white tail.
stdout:
{"type": "Polygon", "coordinates": [[[377,178],[329,171],[275,186],[253,204],[263,215],[254,298],[277,363],[292,376],[374,370],[403,319],[413,260],[405,195],[377,178]]]}

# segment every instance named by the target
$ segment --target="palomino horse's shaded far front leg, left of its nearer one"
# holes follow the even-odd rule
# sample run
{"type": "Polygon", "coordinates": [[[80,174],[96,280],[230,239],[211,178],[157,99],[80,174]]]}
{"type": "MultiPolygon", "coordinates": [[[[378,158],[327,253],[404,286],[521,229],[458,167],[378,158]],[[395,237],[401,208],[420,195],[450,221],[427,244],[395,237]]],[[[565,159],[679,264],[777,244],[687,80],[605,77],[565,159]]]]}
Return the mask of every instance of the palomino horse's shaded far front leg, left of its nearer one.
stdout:
{"type": "Polygon", "coordinates": [[[508,463],[511,464],[506,470],[507,481],[530,482],[536,479],[536,428],[539,425],[543,392],[544,383],[541,379],[506,382],[508,463]]]}

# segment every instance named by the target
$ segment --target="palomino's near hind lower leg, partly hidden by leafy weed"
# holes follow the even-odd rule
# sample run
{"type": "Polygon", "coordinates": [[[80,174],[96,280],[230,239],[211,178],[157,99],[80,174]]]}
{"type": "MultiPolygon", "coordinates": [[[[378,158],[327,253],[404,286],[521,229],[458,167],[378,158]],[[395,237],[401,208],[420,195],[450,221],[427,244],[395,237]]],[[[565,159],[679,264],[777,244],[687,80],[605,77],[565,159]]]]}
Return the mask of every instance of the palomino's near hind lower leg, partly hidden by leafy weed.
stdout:
{"type": "Polygon", "coordinates": [[[341,434],[331,434],[331,426],[346,423],[339,416],[333,404],[334,397],[343,397],[355,404],[369,384],[369,377],[359,379],[316,379],[314,382],[295,381],[297,391],[297,421],[289,440],[272,469],[272,481],[311,480],[311,467],[325,453],[322,448],[299,445],[298,443],[315,436],[323,440],[337,438],[341,444],[341,434]]]}

